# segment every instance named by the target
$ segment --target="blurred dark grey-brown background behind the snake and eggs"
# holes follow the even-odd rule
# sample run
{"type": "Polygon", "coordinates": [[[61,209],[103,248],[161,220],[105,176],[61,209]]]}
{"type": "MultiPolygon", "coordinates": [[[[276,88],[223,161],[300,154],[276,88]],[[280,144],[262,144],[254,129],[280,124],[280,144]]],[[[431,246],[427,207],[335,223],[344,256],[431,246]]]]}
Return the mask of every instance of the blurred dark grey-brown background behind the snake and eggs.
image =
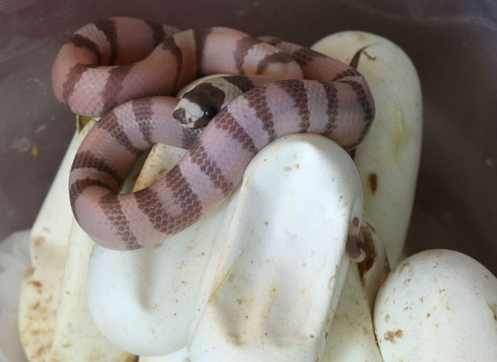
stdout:
{"type": "Polygon", "coordinates": [[[0,240],[31,227],[75,131],[52,94],[52,61],[74,30],[110,16],[306,46],[340,30],[395,42],[418,70],[424,102],[407,254],[455,249],[497,274],[495,0],[0,0],[0,240]]]}

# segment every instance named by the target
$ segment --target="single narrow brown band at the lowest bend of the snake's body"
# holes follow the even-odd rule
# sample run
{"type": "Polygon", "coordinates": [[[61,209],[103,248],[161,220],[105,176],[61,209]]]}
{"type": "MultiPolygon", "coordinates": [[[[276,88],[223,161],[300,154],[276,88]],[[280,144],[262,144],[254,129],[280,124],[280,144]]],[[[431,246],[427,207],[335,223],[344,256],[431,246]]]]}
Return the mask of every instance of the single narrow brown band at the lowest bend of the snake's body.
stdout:
{"type": "Polygon", "coordinates": [[[102,211],[104,211],[107,219],[115,227],[116,235],[121,238],[128,250],[142,247],[142,245],[137,242],[135,235],[129,227],[128,219],[122,211],[116,193],[108,193],[107,195],[102,196],[99,200],[99,205],[102,211]]]}

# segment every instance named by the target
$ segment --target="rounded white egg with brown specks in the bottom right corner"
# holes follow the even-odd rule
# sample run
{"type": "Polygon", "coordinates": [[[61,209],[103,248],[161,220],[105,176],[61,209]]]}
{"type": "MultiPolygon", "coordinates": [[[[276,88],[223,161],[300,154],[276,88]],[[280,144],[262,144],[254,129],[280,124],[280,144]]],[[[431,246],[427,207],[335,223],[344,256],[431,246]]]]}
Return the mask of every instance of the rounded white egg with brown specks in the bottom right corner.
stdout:
{"type": "Polygon", "coordinates": [[[384,361],[495,361],[495,301],[497,278],[465,254],[427,250],[403,260],[376,298],[384,361]]]}

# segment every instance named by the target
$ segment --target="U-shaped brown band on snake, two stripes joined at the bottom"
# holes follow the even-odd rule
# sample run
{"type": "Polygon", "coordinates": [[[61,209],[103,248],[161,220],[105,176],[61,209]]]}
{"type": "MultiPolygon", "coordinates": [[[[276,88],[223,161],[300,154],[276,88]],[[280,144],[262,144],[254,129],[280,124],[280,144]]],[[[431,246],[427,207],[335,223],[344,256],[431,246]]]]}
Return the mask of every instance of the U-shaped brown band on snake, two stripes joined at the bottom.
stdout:
{"type": "Polygon", "coordinates": [[[167,185],[173,191],[173,202],[179,206],[181,213],[172,215],[159,199],[157,192],[143,189],[135,193],[138,208],[147,216],[154,229],[164,234],[176,234],[197,220],[202,214],[202,203],[184,178],[178,165],[175,165],[167,175],[167,185]]]}

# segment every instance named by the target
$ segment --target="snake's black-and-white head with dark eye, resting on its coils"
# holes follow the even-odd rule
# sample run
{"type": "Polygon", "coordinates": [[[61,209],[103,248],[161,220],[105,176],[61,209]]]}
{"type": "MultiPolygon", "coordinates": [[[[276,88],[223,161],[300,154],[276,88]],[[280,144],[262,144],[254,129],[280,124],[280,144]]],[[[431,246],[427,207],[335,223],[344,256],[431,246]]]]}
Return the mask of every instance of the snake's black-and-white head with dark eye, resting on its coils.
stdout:
{"type": "Polygon", "coordinates": [[[173,118],[186,128],[202,128],[217,115],[224,104],[223,90],[203,82],[185,93],[173,111],[173,118]]]}

